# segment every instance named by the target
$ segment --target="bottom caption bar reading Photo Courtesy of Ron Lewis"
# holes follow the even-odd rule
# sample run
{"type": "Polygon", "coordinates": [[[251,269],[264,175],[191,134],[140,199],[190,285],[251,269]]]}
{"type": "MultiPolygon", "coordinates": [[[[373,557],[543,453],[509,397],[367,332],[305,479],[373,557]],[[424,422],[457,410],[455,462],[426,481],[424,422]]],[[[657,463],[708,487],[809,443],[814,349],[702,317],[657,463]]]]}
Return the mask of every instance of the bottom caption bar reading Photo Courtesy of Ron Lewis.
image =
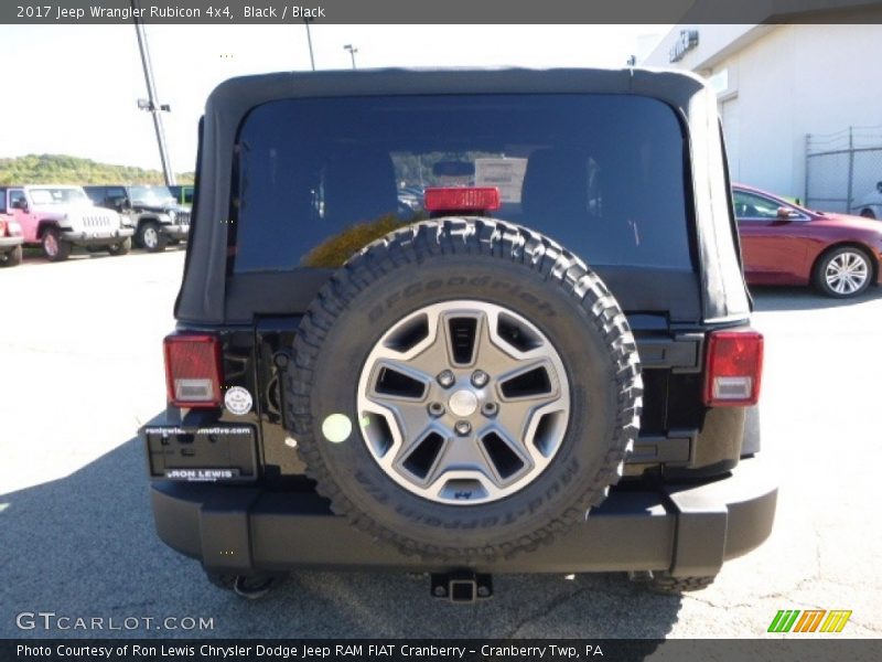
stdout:
{"type": "Polygon", "coordinates": [[[882,641],[818,639],[68,639],[2,640],[17,662],[650,662],[680,660],[880,660],[882,641]]]}

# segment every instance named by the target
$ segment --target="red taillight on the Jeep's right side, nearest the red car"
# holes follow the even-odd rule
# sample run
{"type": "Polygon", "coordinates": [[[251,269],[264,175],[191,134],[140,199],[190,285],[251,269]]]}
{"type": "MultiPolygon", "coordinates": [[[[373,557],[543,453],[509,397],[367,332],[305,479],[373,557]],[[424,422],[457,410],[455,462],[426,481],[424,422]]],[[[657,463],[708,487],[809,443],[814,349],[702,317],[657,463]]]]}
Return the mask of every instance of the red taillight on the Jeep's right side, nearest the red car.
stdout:
{"type": "Polygon", "coordinates": [[[743,407],[760,399],[763,335],[756,331],[714,331],[708,337],[704,404],[743,407]]]}

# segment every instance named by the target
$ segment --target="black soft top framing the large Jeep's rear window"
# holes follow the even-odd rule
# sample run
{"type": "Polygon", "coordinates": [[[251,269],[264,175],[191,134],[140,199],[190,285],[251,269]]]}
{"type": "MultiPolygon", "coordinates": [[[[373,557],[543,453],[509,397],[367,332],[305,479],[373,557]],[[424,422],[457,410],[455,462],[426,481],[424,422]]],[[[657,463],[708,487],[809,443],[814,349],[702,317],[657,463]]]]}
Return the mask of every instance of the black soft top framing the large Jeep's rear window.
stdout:
{"type": "Polygon", "coordinates": [[[731,212],[717,99],[697,76],[625,70],[373,70],[291,72],[232,78],[205,107],[196,173],[193,229],[175,317],[187,323],[246,321],[227,310],[227,228],[234,148],[248,113],[291,97],[419,94],[633,94],[659,99],[681,118],[691,152],[690,201],[701,277],[695,321],[742,320],[750,311],[731,212]]]}

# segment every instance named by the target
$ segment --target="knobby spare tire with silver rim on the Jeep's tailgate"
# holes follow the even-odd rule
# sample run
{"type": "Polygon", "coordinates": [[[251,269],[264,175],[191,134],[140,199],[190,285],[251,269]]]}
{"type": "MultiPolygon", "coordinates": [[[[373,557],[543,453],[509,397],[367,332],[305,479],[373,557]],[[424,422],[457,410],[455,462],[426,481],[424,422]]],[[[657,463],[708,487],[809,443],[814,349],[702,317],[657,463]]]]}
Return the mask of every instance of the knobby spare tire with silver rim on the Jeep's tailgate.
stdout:
{"type": "Polygon", "coordinates": [[[374,242],[305,313],[286,403],[334,512],[406,553],[534,549],[622,474],[642,381],[603,281],[542,235],[441,218],[374,242]]]}

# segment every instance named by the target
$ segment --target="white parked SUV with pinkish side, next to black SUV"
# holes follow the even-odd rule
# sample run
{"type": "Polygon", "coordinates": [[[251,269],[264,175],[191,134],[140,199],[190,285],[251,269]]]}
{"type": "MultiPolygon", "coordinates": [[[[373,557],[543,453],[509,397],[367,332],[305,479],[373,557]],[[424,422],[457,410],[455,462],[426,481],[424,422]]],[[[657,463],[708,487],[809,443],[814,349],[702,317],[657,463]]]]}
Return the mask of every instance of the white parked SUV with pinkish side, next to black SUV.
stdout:
{"type": "Polygon", "coordinates": [[[92,204],[82,186],[0,186],[0,212],[21,226],[25,244],[43,247],[51,261],[67,259],[74,246],[125,255],[132,229],[119,214],[92,204]]]}

